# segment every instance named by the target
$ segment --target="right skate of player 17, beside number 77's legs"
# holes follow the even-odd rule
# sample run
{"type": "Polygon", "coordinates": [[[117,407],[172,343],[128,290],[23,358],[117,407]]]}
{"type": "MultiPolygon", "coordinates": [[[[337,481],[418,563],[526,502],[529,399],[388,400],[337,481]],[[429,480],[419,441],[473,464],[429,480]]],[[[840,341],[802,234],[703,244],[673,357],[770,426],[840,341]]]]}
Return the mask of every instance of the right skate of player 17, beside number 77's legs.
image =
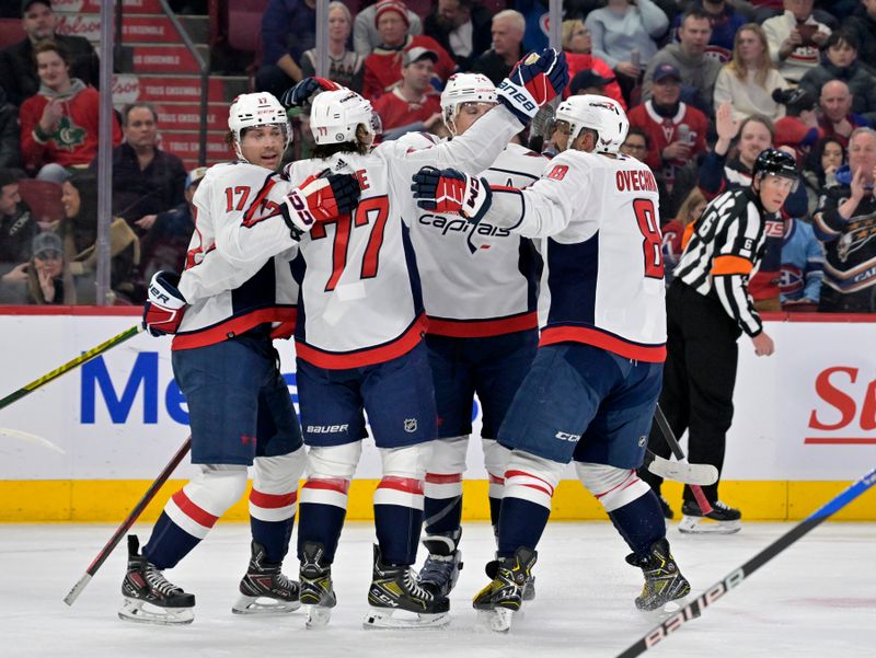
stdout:
{"type": "Polygon", "coordinates": [[[283,575],[283,563],[267,562],[265,547],[256,542],[246,575],[240,581],[240,598],[231,608],[234,614],[286,614],[298,610],[298,582],[283,575]]]}

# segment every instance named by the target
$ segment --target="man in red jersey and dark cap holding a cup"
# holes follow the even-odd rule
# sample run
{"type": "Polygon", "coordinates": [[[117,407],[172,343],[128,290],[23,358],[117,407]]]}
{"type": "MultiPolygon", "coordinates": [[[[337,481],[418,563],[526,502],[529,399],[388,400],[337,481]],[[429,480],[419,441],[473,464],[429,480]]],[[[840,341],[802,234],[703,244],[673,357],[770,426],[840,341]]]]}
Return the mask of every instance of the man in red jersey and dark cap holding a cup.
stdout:
{"type": "Polygon", "coordinates": [[[671,193],[677,170],[706,151],[708,119],[681,102],[681,73],[671,64],[659,65],[652,80],[653,97],[630,111],[630,125],[648,135],[645,163],[661,174],[671,193]]]}

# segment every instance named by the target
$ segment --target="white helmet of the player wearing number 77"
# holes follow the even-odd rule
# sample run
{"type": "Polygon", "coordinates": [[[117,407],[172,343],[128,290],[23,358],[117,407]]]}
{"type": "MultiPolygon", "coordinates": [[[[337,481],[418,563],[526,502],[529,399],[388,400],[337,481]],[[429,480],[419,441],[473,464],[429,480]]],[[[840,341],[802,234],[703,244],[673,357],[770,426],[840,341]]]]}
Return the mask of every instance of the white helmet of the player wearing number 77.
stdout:
{"type": "Polygon", "coordinates": [[[355,91],[342,88],[321,92],[313,97],[310,131],[316,143],[355,142],[359,126],[364,126],[372,139],[383,131],[371,103],[355,91]]]}

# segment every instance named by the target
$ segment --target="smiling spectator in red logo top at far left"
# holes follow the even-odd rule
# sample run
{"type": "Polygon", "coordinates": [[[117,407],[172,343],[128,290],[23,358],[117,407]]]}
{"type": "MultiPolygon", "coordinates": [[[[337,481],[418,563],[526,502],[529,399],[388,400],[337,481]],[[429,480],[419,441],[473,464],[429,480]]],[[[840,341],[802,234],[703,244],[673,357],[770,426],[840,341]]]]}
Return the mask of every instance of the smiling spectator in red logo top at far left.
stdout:
{"type": "MultiPolygon", "coordinates": [[[[64,46],[41,42],[34,46],[34,60],[39,91],[22,103],[19,114],[24,166],[38,172],[38,178],[62,183],[69,171],[88,166],[97,154],[100,96],[93,86],[70,78],[64,46]]],[[[113,146],[120,142],[114,116],[113,146]]]]}

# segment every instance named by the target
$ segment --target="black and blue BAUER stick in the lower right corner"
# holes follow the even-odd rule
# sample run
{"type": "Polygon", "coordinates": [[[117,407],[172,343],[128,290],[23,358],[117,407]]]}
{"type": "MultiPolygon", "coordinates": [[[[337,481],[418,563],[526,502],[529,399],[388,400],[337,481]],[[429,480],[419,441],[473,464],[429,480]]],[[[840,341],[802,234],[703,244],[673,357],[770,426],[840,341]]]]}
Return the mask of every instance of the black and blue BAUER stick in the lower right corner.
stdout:
{"type": "Polygon", "coordinates": [[[773,557],[779,555],[782,551],[787,549],[791,544],[804,536],[810,530],[815,529],[821,522],[828,520],[831,516],[833,516],[833,513],[841,510],[852,500],[861,496],[861,494],[866,492],[874,484],[876,484],[876,469],[873,469],[869,473],[861,477],[844,492],[837,495],[823,507],[810,513],[803,521],[794,526],[794,528],[788,530],[772,544],[763,549],[763,551],[754,555],[754,557],[749,559],[738,569],[727,574],[727,576],[725,576],[722,580],[715,582],[694,601],[688,603],[684,608],[662,622],[659,626],[654,627],[650,633],[635,642],[625,651],[619,654],[618,658],[632,658],[633,656],[639,656],[644,654],[654,645],[665,639],[670,633],[678,631],[682,624],[685,624],[692,619],[700,616],[703,613],[703,610],[705,610],[708,605],[717,601],[734,587],[740,585],[742,580],[748,578],[751,574],[757,572],[760,567],[770,562],[773,557]]]}

